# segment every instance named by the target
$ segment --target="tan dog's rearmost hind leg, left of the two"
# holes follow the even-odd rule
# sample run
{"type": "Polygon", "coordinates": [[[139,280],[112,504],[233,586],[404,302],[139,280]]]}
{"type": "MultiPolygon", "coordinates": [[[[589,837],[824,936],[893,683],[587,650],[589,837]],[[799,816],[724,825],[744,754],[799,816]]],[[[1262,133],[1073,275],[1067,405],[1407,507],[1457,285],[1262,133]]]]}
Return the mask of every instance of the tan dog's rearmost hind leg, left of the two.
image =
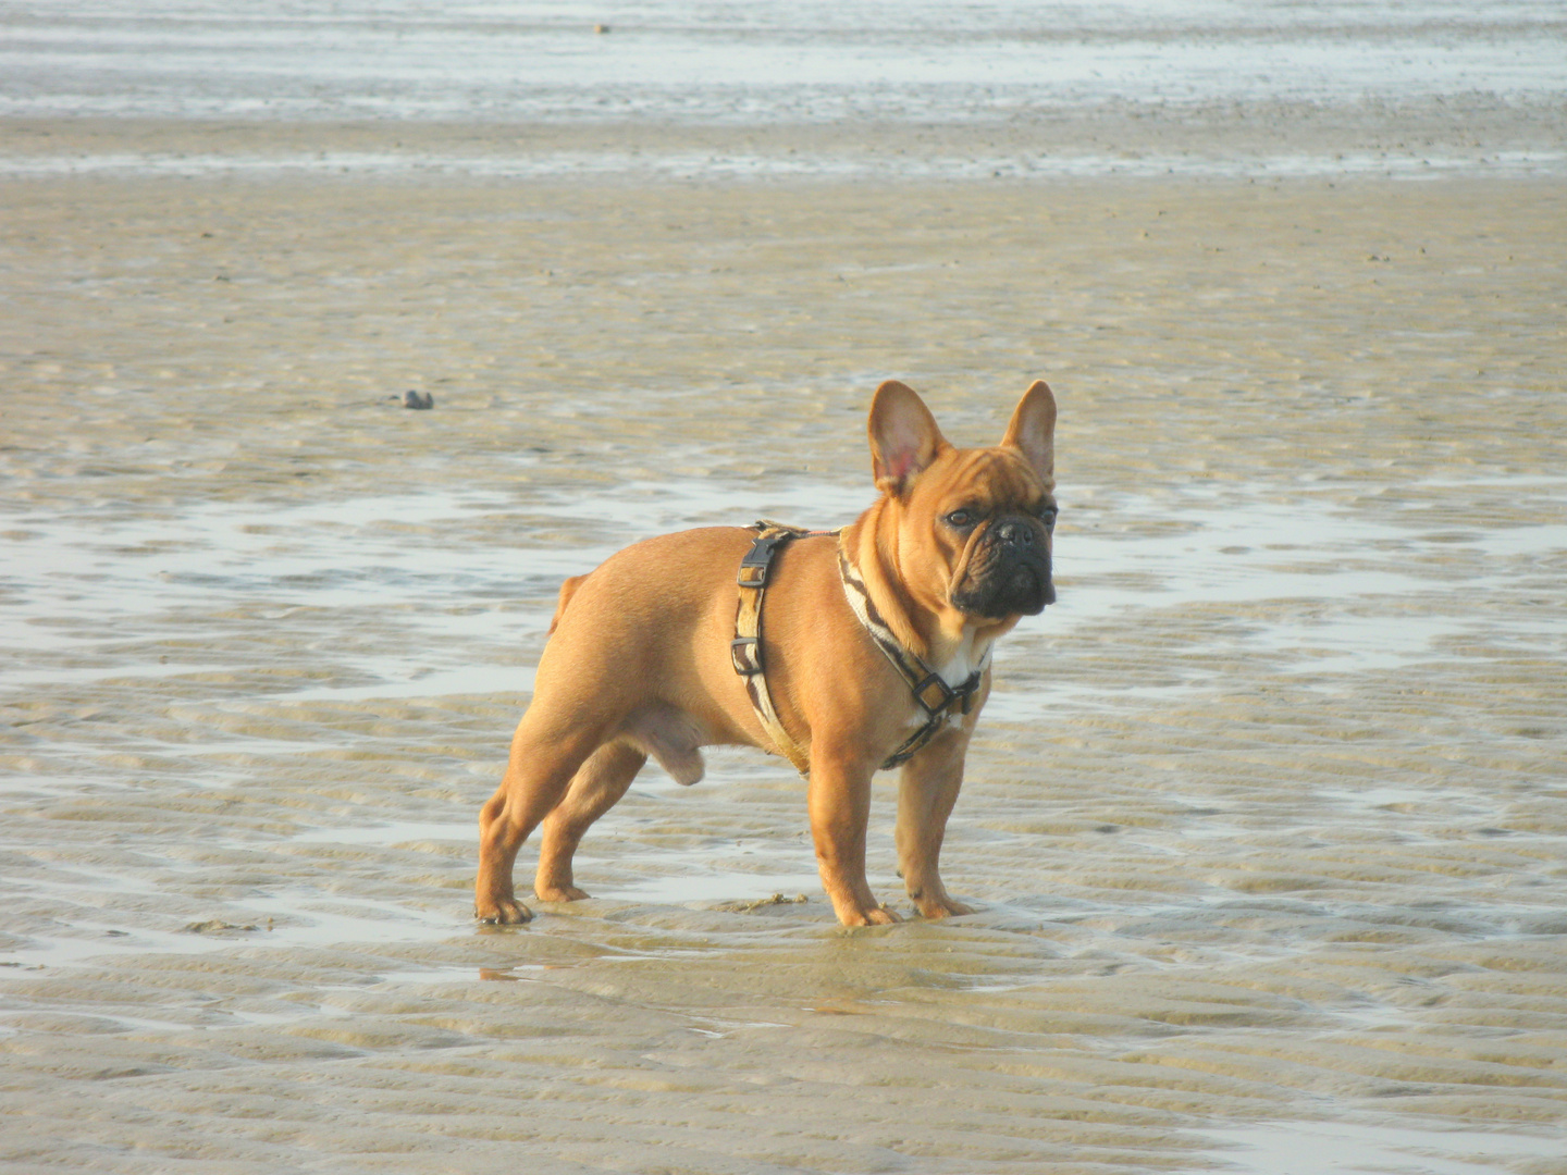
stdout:
{"type": "Polygon", "coordinates": [[[572,777],[599,749],[608,732],[561,728],[536,702],[511,741],[511,761],[495,794],[480,812],[480,873],[473,884],[473,916],[486,923],[525,923],[533,912],[512,893],[517,851],[539,822],[566,797],[572,777]]]}

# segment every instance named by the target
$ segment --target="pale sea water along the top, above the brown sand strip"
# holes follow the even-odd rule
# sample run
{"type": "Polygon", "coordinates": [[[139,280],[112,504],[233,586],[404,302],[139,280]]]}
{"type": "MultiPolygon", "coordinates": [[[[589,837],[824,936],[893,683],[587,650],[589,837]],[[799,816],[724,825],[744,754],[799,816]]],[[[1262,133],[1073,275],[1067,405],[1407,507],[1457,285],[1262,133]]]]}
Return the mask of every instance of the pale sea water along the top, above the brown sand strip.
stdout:
{"type": "Polygon", "coordinates": [[[5,114],[997,118],[1561,91],[1550,3],[11,3],[5,114]],[[608,25],[606,33],[595,28],[608,25]]]}

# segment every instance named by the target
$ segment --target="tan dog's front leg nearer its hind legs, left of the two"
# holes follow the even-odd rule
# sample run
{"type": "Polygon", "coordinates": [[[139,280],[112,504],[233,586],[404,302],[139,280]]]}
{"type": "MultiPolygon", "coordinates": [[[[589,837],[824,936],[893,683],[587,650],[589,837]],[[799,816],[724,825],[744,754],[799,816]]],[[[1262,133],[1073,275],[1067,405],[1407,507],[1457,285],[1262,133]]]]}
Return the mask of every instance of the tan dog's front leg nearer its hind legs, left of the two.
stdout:
{"type": "Polygon", "coordinates": [[[865,880],[865,827],[871,815],[871,772],[856,757],[837,755],[812,743],[810,835],[816,870],[838,921],[845,926],[882,926],[901,921],[881,906],[865,880]]]}

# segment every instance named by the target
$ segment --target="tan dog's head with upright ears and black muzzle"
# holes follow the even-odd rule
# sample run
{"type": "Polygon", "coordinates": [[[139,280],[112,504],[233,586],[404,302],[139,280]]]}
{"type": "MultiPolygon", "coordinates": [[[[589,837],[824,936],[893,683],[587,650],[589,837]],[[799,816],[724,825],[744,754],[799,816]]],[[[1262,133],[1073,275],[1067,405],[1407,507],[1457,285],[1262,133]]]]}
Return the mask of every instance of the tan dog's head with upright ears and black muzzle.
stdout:
{"type": "Polygon", "coordinates": [[[995,448],[954,448],[906,384],[876,389],[871,464],[879,539],[904,589],[943,627],[1011,627],[1055,603],[1050,540],[1056,401],[1037,381],[995,448]]]}

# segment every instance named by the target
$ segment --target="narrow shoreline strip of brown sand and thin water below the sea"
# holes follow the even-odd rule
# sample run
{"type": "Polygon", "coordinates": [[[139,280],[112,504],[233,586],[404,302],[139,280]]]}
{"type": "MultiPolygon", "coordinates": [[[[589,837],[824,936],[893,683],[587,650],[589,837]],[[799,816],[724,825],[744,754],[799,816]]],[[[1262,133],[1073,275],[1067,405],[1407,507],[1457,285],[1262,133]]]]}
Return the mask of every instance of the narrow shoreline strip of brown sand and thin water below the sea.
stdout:
{"type": "Polygon", "coordinates": [[[1031,111],[972,122],[0,118],[0,179],[351,172],[497,179],[1059,182],[1567,177],[1548,103],[1031,111]]]}

